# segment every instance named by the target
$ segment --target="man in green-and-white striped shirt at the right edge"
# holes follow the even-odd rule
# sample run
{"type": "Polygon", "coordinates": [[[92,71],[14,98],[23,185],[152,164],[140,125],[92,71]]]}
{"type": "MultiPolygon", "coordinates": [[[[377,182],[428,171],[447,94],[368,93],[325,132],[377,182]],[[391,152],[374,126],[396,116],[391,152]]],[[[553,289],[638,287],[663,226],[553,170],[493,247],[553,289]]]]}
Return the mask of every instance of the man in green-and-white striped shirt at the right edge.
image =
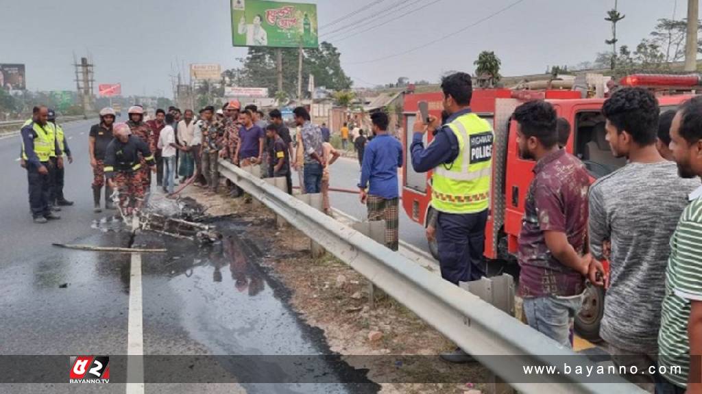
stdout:
{"type": "MultiPolygon", "coordinates": [[[[675,114],[670,150],[681,177],[702,176],[702,97],[675,114]]],[[[660,394],[702,393],[702,186],[689,199],[670,240],[665,272],[658,364],[667,373],[661,371],[656,383],[660,394]]]]}

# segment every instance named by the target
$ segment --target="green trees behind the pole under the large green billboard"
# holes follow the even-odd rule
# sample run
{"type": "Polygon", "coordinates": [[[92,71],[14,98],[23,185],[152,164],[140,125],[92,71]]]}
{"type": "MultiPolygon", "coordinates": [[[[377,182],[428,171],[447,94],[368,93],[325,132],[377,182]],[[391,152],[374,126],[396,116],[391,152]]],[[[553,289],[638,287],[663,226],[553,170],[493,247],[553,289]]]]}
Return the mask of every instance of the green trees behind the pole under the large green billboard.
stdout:
{"type": "MultiPolygon", "coordinates": [[[[225,80],[234,86],[268,88],[277,96],[277,48],[249,48],[249,54],[239,59],[241,67],[223,72],[225,80]]],[[[295,97],[298,86],[298,48],[280,48],[283,64],[283,90],[286,97],[295,97]]],[[[319,48],[303,50],[303,90],[307,88],[310,74],[314,75],[316,86],[326,86],[331,90],[345,90],[352,81],[341,67],[338,49],[326,41],[319,48]]]]}

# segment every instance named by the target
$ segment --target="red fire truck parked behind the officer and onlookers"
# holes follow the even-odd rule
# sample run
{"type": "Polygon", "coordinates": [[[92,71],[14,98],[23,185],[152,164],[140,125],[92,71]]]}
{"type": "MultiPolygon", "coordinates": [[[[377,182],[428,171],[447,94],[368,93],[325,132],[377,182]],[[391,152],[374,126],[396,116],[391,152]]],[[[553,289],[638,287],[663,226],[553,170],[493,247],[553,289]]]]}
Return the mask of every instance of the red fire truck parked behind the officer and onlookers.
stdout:
{"type": "MultiPolygon", "coordinates": [[[[661,113],[676,109],[692,97],[691,92],[702,86],[698,76],[644,75],[627,76],[620,86],[646,86],[653,88],[658,97],[661,113]]],[[[493,146],[493,177],[491,184],[490,211],[485,229],[485,252],[487,264],[496,261],[516,264],[517,238],[522,229],[525,195],[533,178],[535,163],[519,158],[517,153],[516,122],[512,112],[529,100],[546,100],[555,108],[558,116],[566,118],[572,132],[565,149],[580,158],[585,164],[592,182],[595,179],[623,167],[625,158],[615,158],[605,139],[602,104],[604,98],[583,98],[576,90],[474,90],[471,109],[478,116],[493,124],[495,139],[493,146]]],[[[406,95],[403,122],[406,163],[411,163],[412,128],[418,102],[429,104],[430,114],[440,117],[443,94],[422,93],[406,95]]],[[[425,145],[432,136],[425,134],[425,145]]],[[[402,206],[407,216],[427,226],[435,212],[430,206],[432,186],[431,172],[415,172],[411,164],[404,166],[402,206]]],[[[438,258],[436,242],[429,249],[438,258]]],[[[606,263],[606,262],[605,262],[606,263]]],[[[581,313],[576,318],[576,330],[581,337],[599,339],[600,319],[604,308],[604,290],[588,287],[581,313]]]]}

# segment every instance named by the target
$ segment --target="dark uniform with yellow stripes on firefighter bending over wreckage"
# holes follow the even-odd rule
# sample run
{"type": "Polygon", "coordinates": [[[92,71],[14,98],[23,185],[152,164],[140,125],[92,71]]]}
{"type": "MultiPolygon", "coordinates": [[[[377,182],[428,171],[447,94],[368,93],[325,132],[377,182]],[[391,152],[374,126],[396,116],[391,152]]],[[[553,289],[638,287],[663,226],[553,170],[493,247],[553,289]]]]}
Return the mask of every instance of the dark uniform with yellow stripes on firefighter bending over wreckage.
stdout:
{"type": "Polygon", "coordinates": [[[143,170],[148,171],[153,165],[156,165],[154,156],[140,137],[130,135],[127,142],[115,138],[107,145],[105,177],[112,179],[117,186],[121,208],[127,208],[132,201],[143,201],[143,170]]]}

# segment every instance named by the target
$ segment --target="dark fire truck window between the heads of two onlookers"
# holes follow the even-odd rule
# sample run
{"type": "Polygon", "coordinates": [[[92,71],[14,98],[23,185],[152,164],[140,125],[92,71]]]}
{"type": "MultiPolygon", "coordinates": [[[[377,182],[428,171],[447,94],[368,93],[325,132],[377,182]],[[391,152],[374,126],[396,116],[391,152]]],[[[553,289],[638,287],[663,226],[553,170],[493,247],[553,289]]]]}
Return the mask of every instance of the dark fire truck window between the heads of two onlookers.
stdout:
{"type": "Polygon", "coordinates": [[[609,142],[605,138],[604,116],[599,111],[583,111],[576,114],[575,154],[595,178],[618,170],[626,164],[625,158],[612,156],[609,142]]]}

